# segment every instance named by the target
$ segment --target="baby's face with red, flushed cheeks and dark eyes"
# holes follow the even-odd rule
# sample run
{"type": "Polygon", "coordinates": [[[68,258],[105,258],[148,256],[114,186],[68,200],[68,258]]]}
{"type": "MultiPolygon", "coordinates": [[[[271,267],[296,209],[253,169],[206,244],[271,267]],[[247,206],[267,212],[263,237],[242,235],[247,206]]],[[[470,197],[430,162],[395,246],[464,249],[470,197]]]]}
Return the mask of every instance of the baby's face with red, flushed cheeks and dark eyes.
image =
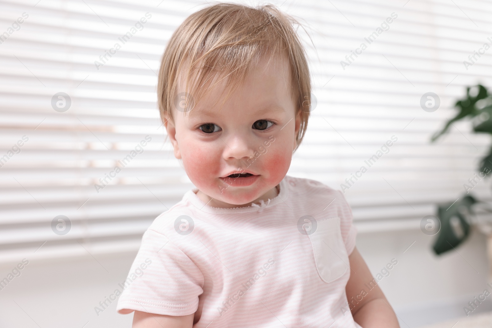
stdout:
{"type": "Polygon", "coordinates": [[[222,93],[219,83],[187,115],[173,111],[166,128],[174,154],[209,206],[247,206],[277,195],[300,126],[290,81],[286,61],[263,60],[222,108],[228,90],[222,93]]]}

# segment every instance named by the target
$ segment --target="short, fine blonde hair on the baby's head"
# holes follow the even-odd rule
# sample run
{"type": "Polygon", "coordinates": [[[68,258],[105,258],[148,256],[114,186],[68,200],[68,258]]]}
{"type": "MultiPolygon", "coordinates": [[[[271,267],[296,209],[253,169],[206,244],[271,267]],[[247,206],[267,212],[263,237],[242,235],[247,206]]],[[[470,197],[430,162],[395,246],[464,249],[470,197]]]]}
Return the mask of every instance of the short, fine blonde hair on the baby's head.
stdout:
{"type": "Polygon", "coordinates": [[[302,26],[272,4],[253,8],[222,2],[188,16],[174,31],[162,56],[157,86],[162,121],[173,119],[183,71],[186,95],[192,95],[185,101],[184,112],[188,113],[204,95],[205,84],[215,77],[227,79],[233,87],[228,97],[263,56],[285,58],[291,76],[287,83],[292,87],[296,115],[301,117],[296,136],[299,146],[307,128],[311,82],[305,49],[292,27],[295,23],[302,26]]]}

